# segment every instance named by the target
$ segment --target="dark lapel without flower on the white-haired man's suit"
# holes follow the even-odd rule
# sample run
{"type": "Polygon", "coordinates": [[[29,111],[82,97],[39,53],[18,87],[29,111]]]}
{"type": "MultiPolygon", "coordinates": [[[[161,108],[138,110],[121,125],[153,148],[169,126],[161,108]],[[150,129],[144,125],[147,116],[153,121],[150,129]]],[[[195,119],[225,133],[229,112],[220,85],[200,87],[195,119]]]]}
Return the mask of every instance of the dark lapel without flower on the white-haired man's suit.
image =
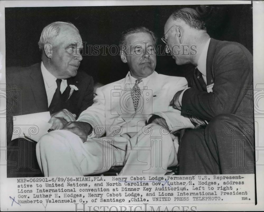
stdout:
{"type": "Polygon", "coordinates": [[[48,99],[40,65],[41,63],[36,64],[31,68],[30,77],[32,81],[30,87],[37,108],[39,108],[40,111],[48,111],[48,99]]]}

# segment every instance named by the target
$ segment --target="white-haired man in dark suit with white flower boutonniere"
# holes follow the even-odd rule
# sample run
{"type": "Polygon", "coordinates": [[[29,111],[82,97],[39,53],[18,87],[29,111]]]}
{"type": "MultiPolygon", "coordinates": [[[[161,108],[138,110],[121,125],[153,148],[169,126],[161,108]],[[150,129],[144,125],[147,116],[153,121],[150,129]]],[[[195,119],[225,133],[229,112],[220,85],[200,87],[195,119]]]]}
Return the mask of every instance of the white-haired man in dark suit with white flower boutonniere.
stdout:
{"type": "Polygon", "coordinates": [[[41,176],[34,141],[22,138],[11,141],[13,114],[49,111],[51,129],[61,129],[92,105],[93,79],[85,73],[77,73],[82,60],[81,47],[82,38],[73,24],[54,22],[41,33],[41,63],[26,68],[7,68],[8,88],[16,86],[16,89],[21,89],[21,97],[17,97],[21,99],[11,99],[12,102],[7,99],[7,105],[13,105],[11,115],[7,115],[8,177],[41,176]],[[72,90],[71,86],[78,90],[72,90]],[[12,162],[15,164],[11,165],[12,162]]]}

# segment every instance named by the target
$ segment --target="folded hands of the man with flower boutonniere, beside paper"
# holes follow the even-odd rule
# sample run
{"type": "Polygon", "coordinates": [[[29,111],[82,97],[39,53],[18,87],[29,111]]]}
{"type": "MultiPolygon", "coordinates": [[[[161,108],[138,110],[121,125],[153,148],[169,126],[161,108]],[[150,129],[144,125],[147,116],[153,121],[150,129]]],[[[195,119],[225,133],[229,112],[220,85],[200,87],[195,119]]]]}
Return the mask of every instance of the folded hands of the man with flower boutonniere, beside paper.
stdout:
{"type": "Polygon", "coordinates": [[[69,112],[67,109],[63,109],[57,113],[51,114],[49,123],[52,124],[50,129],[62,129],[67,122],[76,121],[76,115],[69,112]]]}

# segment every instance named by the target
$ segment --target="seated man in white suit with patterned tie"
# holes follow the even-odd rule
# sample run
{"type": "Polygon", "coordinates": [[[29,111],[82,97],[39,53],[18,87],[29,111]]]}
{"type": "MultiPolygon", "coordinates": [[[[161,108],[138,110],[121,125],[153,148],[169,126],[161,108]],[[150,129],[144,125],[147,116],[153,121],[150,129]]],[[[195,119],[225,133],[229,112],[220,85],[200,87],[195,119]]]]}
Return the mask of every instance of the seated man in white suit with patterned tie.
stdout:
{"type": "Polygon", "coordinates": [[[36,151],[45,176],[91,175],[113,165],[125,165],[120,175],[164,175],[178,164],[172,133],[194,125],[169,104],[187,81],[154,71],[156,41],[145,27],[122,33],[121,60],[130,71],[98,88],[76,122],[40,139],[36,151]]]}

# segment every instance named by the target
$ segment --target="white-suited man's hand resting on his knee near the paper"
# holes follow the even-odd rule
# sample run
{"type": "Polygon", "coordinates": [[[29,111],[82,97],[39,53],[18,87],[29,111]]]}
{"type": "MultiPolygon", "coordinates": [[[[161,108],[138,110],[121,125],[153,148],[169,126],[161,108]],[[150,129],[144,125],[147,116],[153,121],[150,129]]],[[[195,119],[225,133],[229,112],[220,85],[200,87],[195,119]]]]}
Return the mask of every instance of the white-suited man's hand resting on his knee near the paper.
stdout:
{"type": "Polygon", "coordinates": [[[91,124],[86,122],[68,122],[63,129],[66,129],[82,139],[82,142],[86,142],[87,137],[92,132],[91,124]]]}

